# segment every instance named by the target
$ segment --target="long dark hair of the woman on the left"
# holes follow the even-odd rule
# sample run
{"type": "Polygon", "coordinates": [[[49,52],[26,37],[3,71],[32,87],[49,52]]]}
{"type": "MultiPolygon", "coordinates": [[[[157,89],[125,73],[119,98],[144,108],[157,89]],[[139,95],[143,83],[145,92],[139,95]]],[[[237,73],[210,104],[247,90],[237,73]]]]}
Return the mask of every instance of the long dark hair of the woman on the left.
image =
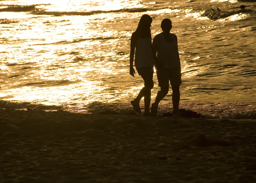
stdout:
{"type": "Polygon", "coordinates": [[[151,38],[150,24],[152,22],[152,18],[148,14],[143,14],[140,17],[140,22],[136,29],[136,33],[140,38],[151,38]]]}

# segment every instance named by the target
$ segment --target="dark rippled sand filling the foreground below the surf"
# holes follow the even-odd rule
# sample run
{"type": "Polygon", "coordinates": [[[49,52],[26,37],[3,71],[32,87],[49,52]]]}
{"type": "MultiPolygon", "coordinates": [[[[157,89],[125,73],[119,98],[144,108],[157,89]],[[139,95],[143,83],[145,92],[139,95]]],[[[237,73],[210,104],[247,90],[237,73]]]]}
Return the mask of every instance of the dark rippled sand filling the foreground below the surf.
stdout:
{"type": "Polygon", "coordinates": [[[1,183],[255,183],[256,120],[0,110],[1,183]]]}

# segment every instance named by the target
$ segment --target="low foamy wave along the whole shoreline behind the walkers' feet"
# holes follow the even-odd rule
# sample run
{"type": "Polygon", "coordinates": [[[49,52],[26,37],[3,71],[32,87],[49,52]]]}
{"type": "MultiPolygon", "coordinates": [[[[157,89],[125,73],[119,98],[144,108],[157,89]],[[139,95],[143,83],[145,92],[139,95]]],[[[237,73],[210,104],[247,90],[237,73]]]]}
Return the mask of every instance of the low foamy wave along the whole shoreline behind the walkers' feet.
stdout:
{"type": "MultiPolygon", "coordinates": [[[[180,102],[180,113],[190,118],[222,118],[222,119],[256,119],[256,102],[225,102],[225,103],[201,103],[180,102]]],[[[65,106],[31,104],[29,102],[15,102],[0,100],[0,109],[10,110],[64,110],[72,113],[92,113],[99,115],[140,115],[137,114],[130,104],[103,103],[94,101],[83,108],[70,104],[65,106]],[[72,107],[71,107],[72,106],[72,107]]],[[[142,111],[144,108],[142,107],[142,111]]],[[[172,104],[159,104],[159,117],[169,117],[172,104]]],[[[183,116],[184,117],[184,116],[183,116]]]]}

